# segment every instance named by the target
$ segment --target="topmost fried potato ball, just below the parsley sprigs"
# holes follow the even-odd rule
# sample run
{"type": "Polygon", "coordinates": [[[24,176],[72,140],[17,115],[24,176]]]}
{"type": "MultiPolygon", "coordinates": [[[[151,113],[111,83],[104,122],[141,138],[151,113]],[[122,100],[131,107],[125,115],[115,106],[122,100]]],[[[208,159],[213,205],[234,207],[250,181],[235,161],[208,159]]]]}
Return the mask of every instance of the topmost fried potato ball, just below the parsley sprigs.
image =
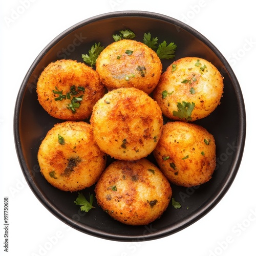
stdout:
{"type": "Polygon", "coordinates": [[[151,48],[136,40],[107,46],[96,61],[96,71],[108,90],[135,87],[150,94],[157,86],[162,63],[151,48]]]}

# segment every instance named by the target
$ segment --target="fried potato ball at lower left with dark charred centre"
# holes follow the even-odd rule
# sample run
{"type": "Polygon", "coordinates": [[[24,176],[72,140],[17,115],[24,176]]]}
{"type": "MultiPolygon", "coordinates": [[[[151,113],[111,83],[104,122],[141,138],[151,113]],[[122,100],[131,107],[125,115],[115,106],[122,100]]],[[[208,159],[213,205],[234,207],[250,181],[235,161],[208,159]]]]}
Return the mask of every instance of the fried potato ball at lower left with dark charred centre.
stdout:
{"type": "Polygon", "coordinates": [[[46,180],[65,191],[90,187],[106,164],[105,154],[93,139],[91,125],[83,121],[56,124],[42,140],[37,157],[46,180]]]}

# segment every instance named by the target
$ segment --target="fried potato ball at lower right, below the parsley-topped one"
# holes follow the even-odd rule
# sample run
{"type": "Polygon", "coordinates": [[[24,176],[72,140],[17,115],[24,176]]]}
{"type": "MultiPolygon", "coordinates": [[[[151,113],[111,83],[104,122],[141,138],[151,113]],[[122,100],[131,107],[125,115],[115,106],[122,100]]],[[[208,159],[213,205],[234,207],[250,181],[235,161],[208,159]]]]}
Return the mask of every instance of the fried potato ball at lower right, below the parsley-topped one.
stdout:
{"type": "Polygon", "coordinates": [[[216,167],[214,136],[195,123],[166,123],[153,155],[167,179],[184,187],[209,181],[216,167]]]}

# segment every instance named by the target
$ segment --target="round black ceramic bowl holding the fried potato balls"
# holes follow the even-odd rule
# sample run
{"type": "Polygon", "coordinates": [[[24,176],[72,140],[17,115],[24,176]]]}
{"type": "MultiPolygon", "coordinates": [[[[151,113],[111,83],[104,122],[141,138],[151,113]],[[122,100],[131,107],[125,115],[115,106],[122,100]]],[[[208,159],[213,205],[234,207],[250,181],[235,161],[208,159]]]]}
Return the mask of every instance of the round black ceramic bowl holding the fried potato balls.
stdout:
{"type": "MultiPolygon", "coordinates": [[[[165,70],[173,60],[164,60],[165,70]]],[[[17,156],[24,176],[38,200],[57,218],[92,236],[116,241],[146,241],[173,234],[196,222],[225,195],[233,182],[242,159],[246,131],[245,106],[239,82],[223,55],[203,35],[174,18],[151,12],[123,11],[98,15],[64,31],[42,50],[32,63],[18,92],[14,114],[14,136],[17,156]],[[88,213],[81,212],[74,201],[77,193],[51,186],[40,174],[37,151],[41,140],[57,120],[48,115],[37,101],[36,82],[44,68],[61,58],[82,62],[81,54],[95,42],[107,46],[112,35],[130,29],[142,41],[144,32],[159,42],[175,42],[175,60],[196,56],[212,62],[224,78],[221,104],[208,117],[196,121],[215,136],[217,167],[212,179],[200,186],[184,188],[172,185],[173,197],[182,207],[170,203],[160,219],[148,226],[121,224],[106,214],[97,203],[88,213]]],[[[150,160],[151,156],[148,157],[150,160]]],[[[88,197],[94,186],[84,189],[88,197]]],[[[46,223],[47,225],[47,223],[46,223]]]]}

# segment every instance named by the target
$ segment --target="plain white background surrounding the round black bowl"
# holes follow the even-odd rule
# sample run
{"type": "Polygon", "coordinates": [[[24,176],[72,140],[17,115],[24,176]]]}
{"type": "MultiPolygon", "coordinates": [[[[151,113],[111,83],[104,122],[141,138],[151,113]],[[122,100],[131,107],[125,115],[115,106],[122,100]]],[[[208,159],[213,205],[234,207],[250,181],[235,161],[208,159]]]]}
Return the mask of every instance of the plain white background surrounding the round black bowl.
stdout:
{"type": "MultiPolygon", "coordinates": [[[[253,1],[2,0],[1,198],[9,197],[9,255],[256,255],[255,10],[253,1]],[[23,7],[25,6],[25,7],[23,7]],[[247,140],[236,179],[209,214],[186,229],[148,242],[114,242],[66,226],[36,199],[20,169],[13,112],[20,84],[42,49],[83,19],[121,10],[145,10],[181,20],[208,38],[229,61],[247,112],[247,140]],[[20,14],[14,15],[19,11],[20,14]],[[254,214],[254,215],[253,215],[254,214]]],[[[232,113],[230,113],[232,115],[232,113]]],[[[1,203],[0,203],[1,204],[1,203]]],[[[3,222],[3,209],[0,214],[3,222]]],[[[3,226],[2,226],[3,227],[3,226]]],[[[4,229],[0,228],[4,255],[4,229]]]]}

